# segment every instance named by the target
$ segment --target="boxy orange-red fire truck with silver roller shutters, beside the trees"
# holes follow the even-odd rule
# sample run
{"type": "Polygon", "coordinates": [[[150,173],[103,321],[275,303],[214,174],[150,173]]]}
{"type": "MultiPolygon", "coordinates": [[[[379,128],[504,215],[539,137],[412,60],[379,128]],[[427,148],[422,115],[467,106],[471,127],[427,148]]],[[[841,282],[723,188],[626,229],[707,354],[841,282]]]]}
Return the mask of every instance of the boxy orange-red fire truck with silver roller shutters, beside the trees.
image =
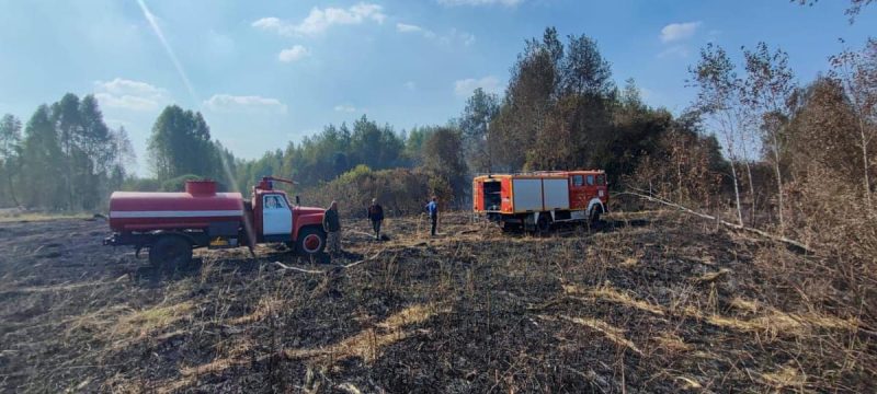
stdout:
{"type": "Polygon", "coordinates": [[[505,228],[548,231],[553,223],[595,223],[607,211],[602,170],[489,174],[472,179],[472,209],[505,228]]]}

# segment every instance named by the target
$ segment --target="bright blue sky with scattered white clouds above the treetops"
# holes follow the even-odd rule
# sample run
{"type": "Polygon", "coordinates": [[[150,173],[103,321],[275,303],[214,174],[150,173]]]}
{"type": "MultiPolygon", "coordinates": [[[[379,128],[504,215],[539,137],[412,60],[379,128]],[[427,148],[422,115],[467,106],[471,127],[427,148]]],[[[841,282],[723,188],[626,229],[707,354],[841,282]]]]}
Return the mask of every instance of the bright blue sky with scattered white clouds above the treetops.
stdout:
{"type": "Polygon", "coordinates": [[[812,80],[838,38],[858,48],[875,33],[877,7],[851,25],[847,3],[0,0],[0,113],[26,121],[66,92],[94,93],[145,174],[152,121],[179,104],[257,158],[363,114],[397,130],[444,124],[476,86],[501,94],[524,40],[546,26],[595,38],[619,84],[634,78],[650,105],[677,113],[708,42],[736,57],[759,40],[779,46],[812,80]]]}

